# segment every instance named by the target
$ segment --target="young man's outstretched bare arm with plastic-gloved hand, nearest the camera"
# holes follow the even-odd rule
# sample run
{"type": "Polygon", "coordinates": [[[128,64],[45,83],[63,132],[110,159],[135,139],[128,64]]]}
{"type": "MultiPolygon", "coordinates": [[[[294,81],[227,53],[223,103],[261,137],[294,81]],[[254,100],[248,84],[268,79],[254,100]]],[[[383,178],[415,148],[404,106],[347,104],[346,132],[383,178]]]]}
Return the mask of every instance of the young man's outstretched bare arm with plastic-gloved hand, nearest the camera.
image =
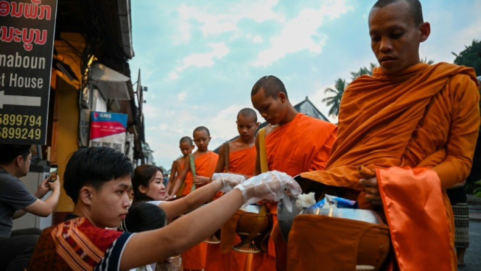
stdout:
{"type": "Polygon", "coordinates": [[[299,184],[294,179],[286,174],[283,174],[284,177],[279,177],[280,175],[282,174],[269,172],[259,176],[262,181],[251,178],[221,198],[165,227],[133,235],[125,246],[120,269],[126,270],[181,254],[212,235],[244,203],[255,202],[259,198],[279,201],[286,189],[294,196],[301,193],[299,184]]]}

